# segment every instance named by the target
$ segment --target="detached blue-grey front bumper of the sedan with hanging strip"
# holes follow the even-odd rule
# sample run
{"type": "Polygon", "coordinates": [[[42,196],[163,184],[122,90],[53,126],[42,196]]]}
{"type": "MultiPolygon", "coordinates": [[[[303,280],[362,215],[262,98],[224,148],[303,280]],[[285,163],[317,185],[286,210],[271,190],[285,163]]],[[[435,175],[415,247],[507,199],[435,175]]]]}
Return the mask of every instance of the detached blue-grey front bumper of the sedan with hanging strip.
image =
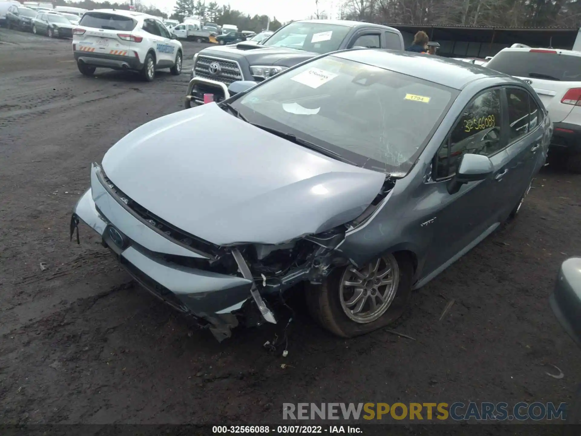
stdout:
{"type": "MultiPolygon", "coordinates": [[[[153,295],[174,309],[203,321],[218,341],[231,336],[238,326],[237,313],[245,303],[254,303],[263,320],[276,323],[274,315],[261,298],[252,274],[241,252],[231,248],[241,276],[186,267],[170,260],[182,256],[201,260],[207,258],[176,244],[124,204],[110,191],[101,167],[91,168],[91,188],[79,199],[71,216],[71,238],[83,221],[102,237],[102,243],[119,259],[130,275],[153,295]]],[[[260,323],[260,322],[259,322],[260,323]]]]}

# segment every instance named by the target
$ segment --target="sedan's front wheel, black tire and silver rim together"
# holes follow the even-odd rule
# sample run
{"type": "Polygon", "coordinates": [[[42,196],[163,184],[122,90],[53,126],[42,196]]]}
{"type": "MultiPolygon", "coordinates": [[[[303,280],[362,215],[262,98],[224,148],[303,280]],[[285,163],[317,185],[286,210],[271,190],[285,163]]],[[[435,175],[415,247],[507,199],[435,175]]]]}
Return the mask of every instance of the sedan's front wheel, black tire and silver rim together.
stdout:
{"type": "Polygon", "coordinates": [[[326,330],[352,338],[393,323],[411,299],[413,261],[389,253],[357,268],[332,271],[321,285],[306,289],[311,315],[326,330]]]}

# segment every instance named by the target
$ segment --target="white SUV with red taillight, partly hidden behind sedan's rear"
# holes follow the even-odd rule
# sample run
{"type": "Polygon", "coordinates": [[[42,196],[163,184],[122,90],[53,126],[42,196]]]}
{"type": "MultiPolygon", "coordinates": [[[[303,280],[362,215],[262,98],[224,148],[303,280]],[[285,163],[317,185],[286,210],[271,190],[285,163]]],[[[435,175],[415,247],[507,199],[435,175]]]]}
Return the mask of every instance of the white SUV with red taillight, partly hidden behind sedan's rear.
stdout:
{"type": "Polygon", "coordinates": [[[581,173],[581,52],[552,48],[505,48],[487,68],[521,78],[539,94],[554,131],[550,153],[566,157],[581,173]]]}

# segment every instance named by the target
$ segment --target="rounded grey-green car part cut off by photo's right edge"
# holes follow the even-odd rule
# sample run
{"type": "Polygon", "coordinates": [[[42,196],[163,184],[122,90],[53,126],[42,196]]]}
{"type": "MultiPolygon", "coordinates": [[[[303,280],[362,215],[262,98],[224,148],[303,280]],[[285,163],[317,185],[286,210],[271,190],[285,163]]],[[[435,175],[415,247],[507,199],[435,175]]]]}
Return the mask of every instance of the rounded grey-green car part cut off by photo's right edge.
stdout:
{"type": "Polygon", "coordinates": [[[561,264],[549,304],[561,326],[581,346],[581,258],[561,264]]]}

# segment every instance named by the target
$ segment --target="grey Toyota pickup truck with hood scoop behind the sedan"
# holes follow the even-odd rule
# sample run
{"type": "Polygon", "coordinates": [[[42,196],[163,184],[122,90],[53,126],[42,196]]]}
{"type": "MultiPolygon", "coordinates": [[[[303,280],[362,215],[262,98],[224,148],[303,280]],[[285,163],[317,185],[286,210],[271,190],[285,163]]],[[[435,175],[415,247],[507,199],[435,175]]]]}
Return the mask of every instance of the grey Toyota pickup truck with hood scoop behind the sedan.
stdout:
{"type": "Polygon", "coordinates": [[[235,81],[260,82],[289,67],[337,50],[354,47],[403,50],[399,30],[345,20],[302,20],[279,28],[260,44],[208,47],[196,53],[185,107],[200,105],[204,94],[220,102],[230,96],[235,81]]]}

